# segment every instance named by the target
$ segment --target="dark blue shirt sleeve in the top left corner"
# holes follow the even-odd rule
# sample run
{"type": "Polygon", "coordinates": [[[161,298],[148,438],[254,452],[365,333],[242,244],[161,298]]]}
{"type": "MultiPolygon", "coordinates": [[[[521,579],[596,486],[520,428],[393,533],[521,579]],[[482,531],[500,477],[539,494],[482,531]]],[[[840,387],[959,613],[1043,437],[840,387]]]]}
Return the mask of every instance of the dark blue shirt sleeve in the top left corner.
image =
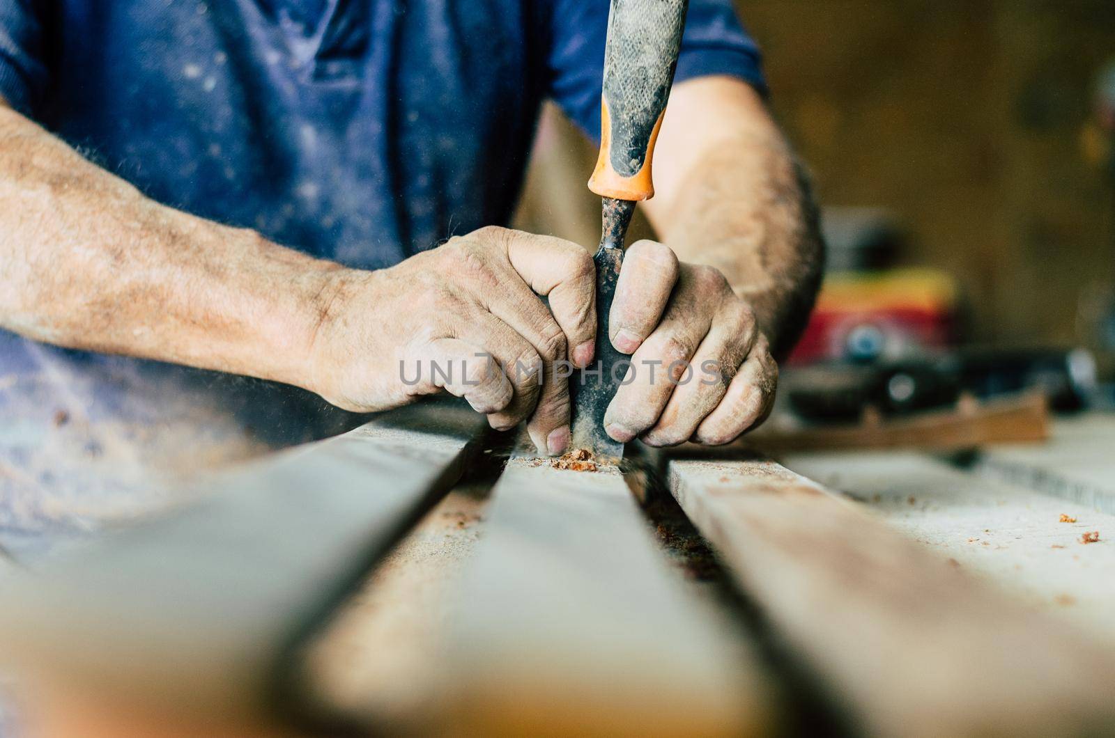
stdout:
{"type": "Polygon", "coordinates": [[[30,114],[42,96],[42,25],[36,0],[0,0],[0,96],[30,114]]]}

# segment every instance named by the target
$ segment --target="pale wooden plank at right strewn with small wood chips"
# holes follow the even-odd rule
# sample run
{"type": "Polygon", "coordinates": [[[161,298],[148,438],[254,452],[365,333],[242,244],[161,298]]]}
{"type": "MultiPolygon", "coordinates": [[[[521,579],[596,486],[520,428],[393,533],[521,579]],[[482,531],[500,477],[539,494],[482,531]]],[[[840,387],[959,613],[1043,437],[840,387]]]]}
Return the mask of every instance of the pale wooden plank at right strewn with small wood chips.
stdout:
{"type": "Polygon", "coordinates": [[[1115,516],[919,454],[802,454],[786,466],[862,502],[908,538],[1115,643],[1115,516]],[[1068,519],[1061,522],[1061,516],[1068,519]],[[1075,522],[1072,522],[1075,521],[1075,522]],[[1082,535],[1099,531],[1102,544],[1082,535]]]}

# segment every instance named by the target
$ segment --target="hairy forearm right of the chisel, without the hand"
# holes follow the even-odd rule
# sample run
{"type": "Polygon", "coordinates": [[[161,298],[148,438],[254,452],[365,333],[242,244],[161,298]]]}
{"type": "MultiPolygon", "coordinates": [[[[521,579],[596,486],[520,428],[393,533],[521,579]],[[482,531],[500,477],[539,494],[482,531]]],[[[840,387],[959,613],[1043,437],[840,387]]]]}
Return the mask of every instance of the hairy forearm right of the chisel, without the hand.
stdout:
{"type": "Polygon", "coordinates": [[[692,80],[676,95],[686,109],[676,111],[671,99],[667,125],[676,125],[663,127],[662,137],[672,156],[665,167],[661,150],[656,157],[661,203],[651,217],[679,259],[728,278],[750,303],[773,353],[784,357],[808,318],[824,260],[807,179],[741,82],[692,80]]]}

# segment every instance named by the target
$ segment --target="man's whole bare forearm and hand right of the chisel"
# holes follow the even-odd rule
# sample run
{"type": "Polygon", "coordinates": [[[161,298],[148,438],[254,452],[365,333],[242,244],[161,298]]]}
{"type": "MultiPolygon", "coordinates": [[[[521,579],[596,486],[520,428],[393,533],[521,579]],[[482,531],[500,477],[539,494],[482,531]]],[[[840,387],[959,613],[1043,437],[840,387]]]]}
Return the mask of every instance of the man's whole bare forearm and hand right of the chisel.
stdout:
{"type": "Polygon", "coordinates": [[[784,358],[805,327],[824,261],[817,208],[762,97],[739,79],[675,85],[655,150],[657,194],[643,210],[670,247],[628,250],[610,338],[633,353],[636,373],[604,420],[618,440],[724,444],[769,414],[772,355],[784,358]],[[677,386],[686,369],[669,376],[675,361],[691,367],[677,386]]]}

